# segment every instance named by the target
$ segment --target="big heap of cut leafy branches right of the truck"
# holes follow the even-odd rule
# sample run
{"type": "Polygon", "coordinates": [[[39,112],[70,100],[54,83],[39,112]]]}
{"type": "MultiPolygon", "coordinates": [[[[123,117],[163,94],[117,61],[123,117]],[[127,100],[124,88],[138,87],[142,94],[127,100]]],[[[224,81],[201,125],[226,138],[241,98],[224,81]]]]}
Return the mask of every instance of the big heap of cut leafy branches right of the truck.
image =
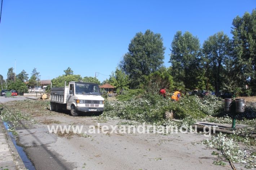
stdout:
{"type": "MultiPolygon", "coordinates": [[[[210,104],[212,98],[206,98],[206,102],[195,96],[185,96],[178,102],[173,102],[153,93],[141,94],[140,96],[130,93],[121,96],[118,97],[122,98],[123,101],[107,101],[105,103],[103,116],[153,123],[163,121],[165,111],[172,111],[175,118],[186,119],[186,124],[190,124],[193,123],[194,119],[204,118],[207,114],[215,113],[215,107],[210,104]],[[124,100],[128,98],[129,100],[124,100]]],[[[216,105],[221,105],[221,103],[216,102],[216,105]]]]}

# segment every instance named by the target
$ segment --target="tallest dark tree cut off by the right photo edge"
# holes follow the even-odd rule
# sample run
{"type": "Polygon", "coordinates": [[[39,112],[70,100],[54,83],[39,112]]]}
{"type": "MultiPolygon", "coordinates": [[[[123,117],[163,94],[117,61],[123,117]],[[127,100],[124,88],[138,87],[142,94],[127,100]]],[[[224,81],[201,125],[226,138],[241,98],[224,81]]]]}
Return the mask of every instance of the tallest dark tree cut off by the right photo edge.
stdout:
{"type": "Polygon", "coordinates": [[[233,20],[235,70],[240,87],[246,84],[256,94],[256,10],[233,20]]]}

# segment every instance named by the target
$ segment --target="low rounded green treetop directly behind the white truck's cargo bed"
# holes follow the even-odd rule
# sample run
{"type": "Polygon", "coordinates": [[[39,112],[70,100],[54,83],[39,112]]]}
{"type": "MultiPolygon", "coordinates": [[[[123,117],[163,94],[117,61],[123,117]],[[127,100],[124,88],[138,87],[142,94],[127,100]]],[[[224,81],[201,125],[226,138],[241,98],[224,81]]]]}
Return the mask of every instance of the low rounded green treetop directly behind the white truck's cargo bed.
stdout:
{"type": "Polygon", "coordinates": [[[60,75],[59,77],[52,79],[52,87],[64,87],[65,82],[67,86],[67,84],[69,84],[69,82],[71,81],[78,82],[80,80],[82,80],[82,77],[80,75],[60,75]]]}

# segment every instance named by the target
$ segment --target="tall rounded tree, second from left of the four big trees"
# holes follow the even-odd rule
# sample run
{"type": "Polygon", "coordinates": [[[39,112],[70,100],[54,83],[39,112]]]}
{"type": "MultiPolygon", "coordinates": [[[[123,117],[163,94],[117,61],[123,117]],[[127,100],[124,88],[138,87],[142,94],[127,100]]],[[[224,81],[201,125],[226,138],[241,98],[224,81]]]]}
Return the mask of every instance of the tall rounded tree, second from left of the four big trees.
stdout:
{"type": "Polygon", "coordinates": [[[200,82],[202,70],[199,67],[200,43],[198,37],[190,32],[182,35],[178,31],[172,41],[169,63],[172,64],[171,73],[175,82],[183,82],[188,89],[196,88],[200,82]]]}

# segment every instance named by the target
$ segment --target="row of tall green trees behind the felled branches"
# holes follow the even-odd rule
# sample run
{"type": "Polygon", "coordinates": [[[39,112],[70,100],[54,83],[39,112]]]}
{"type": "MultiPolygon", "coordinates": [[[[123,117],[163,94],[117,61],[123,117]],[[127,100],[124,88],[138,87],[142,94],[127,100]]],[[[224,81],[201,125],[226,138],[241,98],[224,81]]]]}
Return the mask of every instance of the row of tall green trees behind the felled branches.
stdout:
{"type": "Polygon", "coordinates": [[[237,16],[232,24],[232,39],[217,32],[202,46],[197,36],[178,31],[171,43],[169,68],[162,65],[165,47],[161,35],[150,30],[144,34],[139,32],[129,44],[120,71],[128,75],[132,89],[152,87],[154,83],[159,88],[198,88],[214,90],[216,94],[223,90],[255,95],[256,10],[237,16]]]}

